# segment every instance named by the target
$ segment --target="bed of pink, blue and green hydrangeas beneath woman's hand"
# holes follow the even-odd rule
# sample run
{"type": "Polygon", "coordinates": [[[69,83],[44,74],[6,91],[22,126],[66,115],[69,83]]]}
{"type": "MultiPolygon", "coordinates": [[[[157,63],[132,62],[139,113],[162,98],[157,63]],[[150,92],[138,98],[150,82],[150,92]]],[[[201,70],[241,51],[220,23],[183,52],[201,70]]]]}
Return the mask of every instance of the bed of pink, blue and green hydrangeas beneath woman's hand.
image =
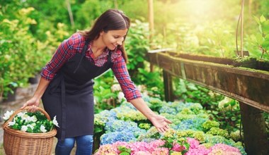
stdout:
{"type": "MultiPolygon", "coordinates": [[[[200,104],[158,102],[147,97],[149,106],[172,120],[171,130],[160,134],[131,104],[96,114],[103,127],[98,154],[246,154],[241,142],[210,120],[200,104]],[[161,104],[159,106],[158,104],[161,104]]],[[[234,134],[234,133],[233,133],[234,134]]]]}

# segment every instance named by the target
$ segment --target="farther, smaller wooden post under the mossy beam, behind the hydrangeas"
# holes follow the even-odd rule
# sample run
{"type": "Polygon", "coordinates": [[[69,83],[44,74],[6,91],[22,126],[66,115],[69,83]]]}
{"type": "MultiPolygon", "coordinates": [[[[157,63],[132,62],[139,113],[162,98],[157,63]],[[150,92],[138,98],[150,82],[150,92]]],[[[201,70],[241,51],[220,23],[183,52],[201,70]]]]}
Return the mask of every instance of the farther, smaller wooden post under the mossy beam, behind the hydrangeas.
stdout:
{"type": "Polygon", "coordinates": [[[164,76],[164,95],[166,101],[173,101],[173,80],[171,74],[163,70],[164,76]]]}

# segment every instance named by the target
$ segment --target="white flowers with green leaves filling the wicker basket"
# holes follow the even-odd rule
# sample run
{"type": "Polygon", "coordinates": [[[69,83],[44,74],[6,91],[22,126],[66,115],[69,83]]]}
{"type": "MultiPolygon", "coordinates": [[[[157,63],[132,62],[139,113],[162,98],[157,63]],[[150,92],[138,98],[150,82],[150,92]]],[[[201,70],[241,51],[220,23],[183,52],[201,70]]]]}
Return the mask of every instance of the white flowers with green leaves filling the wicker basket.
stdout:
{"type": "Polygon", "coordinates": [[[44,113],[37,111],[35,113],[19,112],[10,120],[13,111],[6,111],[4,120],[8,121],[8,127],[23,132],[42,133],[50,132],[55,126],[58,126],[56,116],[49,120],[44,113]]]}

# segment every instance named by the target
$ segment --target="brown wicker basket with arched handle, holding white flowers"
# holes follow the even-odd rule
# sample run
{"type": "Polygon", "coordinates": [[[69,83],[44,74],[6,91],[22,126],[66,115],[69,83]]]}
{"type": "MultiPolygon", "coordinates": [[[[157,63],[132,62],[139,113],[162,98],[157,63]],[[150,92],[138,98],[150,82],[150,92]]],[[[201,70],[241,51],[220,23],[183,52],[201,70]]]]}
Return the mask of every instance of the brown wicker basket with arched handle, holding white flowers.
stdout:
{"type": "MultiPolygon", "coordinates": [[[[55,128],[52,131],[45,133],[29,133],[20,130],[13,130],[7,126],[8,122],[11,121],[16,116],[16,114],[28,109],[30,109],[29,106],[25,109],[19,109],[18,111],[15,111],[3,125],[4,150],[6,155],[51,154],[54,136],[57,133],[55,128]]],[[[45,110],[38,108],[38,111],[44,113],[47,119],[50,120],[50,116],[45,110]]]]}

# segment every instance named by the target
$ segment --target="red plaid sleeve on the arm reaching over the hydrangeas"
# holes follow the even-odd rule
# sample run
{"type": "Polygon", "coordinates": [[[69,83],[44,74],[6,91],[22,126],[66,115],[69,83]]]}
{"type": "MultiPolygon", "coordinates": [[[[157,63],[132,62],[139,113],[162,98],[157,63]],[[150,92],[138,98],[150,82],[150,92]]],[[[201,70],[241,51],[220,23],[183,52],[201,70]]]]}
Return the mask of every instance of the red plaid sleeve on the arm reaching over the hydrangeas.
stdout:
{"type": "Polygon", "coordinates": [[[127,101],[142,97],[137,87],[135,87],[134,82],[132,82],[125,60],[121,55],[116,58],[111,69],[120,83],[120,87],[122,88],[122,92],[125,94],[127,101]]]}

